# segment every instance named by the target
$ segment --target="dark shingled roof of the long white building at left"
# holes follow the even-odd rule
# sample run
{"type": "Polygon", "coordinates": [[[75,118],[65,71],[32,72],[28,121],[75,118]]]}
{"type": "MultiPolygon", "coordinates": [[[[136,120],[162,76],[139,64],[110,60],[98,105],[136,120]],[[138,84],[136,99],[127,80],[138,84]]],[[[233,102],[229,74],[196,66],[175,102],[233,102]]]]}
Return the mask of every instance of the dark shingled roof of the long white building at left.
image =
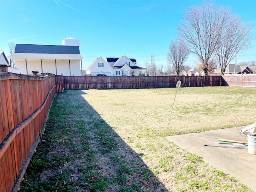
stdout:
{"type": "Polygon", "coordinates": [[[79,46],[16,44],[15,53],[80,54],[79,46]]]}

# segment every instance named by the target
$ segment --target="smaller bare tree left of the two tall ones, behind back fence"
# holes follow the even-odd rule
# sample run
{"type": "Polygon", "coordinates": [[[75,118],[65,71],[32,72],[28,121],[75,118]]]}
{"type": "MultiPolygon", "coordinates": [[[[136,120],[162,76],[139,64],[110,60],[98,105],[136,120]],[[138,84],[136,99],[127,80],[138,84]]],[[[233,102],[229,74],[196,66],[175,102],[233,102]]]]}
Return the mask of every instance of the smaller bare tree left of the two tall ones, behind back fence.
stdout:
{"type": "Polygon", "coordinates": [[[188,59],[189,51],[184,42],[173,40],[170,42],[167,54],[167,62],[172,64],[177,75],[182,72],[182,66],[188,59]]]}

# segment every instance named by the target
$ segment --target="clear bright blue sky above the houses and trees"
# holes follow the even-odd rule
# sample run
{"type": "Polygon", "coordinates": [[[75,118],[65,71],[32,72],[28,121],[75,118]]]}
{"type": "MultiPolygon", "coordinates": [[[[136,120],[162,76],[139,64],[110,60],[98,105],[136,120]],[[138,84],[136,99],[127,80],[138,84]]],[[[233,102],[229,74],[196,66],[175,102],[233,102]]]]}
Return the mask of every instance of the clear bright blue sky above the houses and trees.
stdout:
{"type": "MultiPolygon", "coordinates": [[[[256,0],[217,0],[256,30],[256,0]]],[[[96,58],[135,58],[139,66],[166,65],[170,41],[176,38],[182,13],[196,0],[1,0],[0,50],[8,42],[61,45],[72,35],[81,41],[83,69],[96,58]]],[[[256,33],[254,32],[254,36],[256,33]]],[[[256,39],[237,61],[256,60],[256,39]]],[[[186,65],[194,67],[191,55],[186,65]]]]}

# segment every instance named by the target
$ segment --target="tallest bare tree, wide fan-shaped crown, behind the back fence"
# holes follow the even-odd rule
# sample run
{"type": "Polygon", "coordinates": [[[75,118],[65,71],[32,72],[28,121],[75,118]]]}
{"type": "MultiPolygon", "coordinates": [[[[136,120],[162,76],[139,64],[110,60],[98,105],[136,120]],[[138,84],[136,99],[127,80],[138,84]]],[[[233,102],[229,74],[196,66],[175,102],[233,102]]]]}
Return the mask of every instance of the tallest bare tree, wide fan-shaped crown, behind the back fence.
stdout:
{"type": "Polygon", "coordinates": [[[208,62],[220,40],[229,10],[213,2],[203,2],[201,6],[192,5],[183,14],[184,21],[178,25],[178,36],[190,52],[196,54],[204,64],[208,75],[208,62]]]}

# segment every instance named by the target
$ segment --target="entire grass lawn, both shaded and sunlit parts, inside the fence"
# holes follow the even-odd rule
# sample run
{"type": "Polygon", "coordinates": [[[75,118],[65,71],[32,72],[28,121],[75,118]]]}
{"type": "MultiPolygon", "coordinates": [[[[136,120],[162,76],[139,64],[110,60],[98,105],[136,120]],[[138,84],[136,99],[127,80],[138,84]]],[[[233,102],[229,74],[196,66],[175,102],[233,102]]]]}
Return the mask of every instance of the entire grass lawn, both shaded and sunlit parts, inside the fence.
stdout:
{"type": "Polygon", "coordinates": [[[20,191],[250,192],[166,136],[255,122],[256,89],[66,90],[20,191]],[[173,110],[172,104],[174,102],[173,110]],[[172,116],[170,116],[172,110],[172,116]]]}

